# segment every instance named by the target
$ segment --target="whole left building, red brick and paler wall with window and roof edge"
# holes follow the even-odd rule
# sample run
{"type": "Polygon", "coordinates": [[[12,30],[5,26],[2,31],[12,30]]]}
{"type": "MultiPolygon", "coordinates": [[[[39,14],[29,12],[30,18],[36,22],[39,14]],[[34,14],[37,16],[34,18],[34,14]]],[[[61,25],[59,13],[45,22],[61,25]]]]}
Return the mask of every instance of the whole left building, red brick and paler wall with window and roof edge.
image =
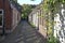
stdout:
{"type": "Polygon", "coordinates": [[[12,0],[0,0],[0,33],[12,32],[21,20],[21,6],[12,0]]]}

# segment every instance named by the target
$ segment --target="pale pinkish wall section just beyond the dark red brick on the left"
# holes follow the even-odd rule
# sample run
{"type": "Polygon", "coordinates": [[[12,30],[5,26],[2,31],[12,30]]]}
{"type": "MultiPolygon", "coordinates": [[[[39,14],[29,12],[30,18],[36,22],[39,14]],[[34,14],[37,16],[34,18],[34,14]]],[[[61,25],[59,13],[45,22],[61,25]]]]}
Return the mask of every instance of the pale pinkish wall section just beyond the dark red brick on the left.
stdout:
{"type": "Polygon", "coordinates": [[[12,9],[12,27],[13,29],[17,26],[18,22],[21,20],[21,14],[20,12],[16,10],[16,8],[14,5],[11,4],[11,9],[12,9]],[[17,19],[18,17],[18,19],[17,19]]]}

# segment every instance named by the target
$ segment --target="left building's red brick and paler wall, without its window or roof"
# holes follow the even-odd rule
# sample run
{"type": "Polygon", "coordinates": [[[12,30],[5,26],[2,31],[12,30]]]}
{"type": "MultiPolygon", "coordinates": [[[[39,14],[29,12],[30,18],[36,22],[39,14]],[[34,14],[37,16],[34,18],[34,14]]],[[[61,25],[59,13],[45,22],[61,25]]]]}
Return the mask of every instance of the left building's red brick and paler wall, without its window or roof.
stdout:
{"type": "MultiPolygon", "coordinates": [[[[11,5],[9,0],[0,0],[0,9],[4,11],[4,30],[6,33],[13,31],[21,20],[21,13],[14,5],[11,5]]],[[[1,31],[2,28],[0,28],[1,31]]],[[[3,30],[3,29],[2,29],[3,30]]]]}

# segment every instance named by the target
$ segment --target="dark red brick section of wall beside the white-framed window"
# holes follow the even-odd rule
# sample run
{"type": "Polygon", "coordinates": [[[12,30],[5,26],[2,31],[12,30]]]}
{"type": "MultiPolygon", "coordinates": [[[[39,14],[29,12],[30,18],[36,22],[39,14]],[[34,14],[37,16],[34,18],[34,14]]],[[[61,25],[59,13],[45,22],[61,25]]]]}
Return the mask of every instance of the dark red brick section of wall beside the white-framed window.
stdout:
{"type": "Polygon", "coordinates": [[[4,25],[6,29],[11,27],[11,9],[8,0],[0,0],[0,9],[3,10],[4,13],[4,25]]]}

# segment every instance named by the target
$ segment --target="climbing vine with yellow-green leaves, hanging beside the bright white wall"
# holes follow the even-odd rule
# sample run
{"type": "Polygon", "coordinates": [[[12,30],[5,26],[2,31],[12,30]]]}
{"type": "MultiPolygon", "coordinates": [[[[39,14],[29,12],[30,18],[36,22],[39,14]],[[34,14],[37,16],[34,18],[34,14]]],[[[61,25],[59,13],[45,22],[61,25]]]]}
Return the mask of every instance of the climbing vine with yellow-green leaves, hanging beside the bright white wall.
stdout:
{"type": "Polygon", "coordinates": [[[55,13],[60,11],[60,8],[58,8],[60,4],[65,4],[65,0],[43,0],[42,4],[40,5],[47,22],[49,43],[57,42],[57,41],[54,41],[53,26],[54,26],[55,13]]]}

